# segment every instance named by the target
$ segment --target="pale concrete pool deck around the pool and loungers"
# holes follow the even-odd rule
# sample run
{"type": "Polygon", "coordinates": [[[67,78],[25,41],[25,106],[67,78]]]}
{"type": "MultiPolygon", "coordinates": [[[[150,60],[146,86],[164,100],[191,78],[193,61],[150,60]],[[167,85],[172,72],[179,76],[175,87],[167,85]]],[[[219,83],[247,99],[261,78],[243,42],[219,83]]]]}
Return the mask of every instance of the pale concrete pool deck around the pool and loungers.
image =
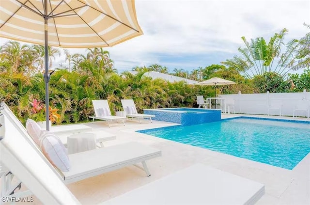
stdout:
{"type": "MultiPolygon", "coordinates": [[[[255,116],[264,118],[291,119],[292,117],[222,114],[222,118],[236,116],[255,116]]],[[[307,118],[294,120],[310,121],[307,118]]],[[[149,182],[175,173],[190,165],[202,163],[210,167],[233,173],[265,185],[265,194],[257,205],[309,205],[310,204],[310,154],[308,154],[293,170],[251,161],[244,158],[218,153],[208,149],[194,147],[179,142],[149,136],[135,130],[176,125],[173,123],[142,121],[141,124],[127,120],[126,126],[113,123],[111,127],[105,122],[85,123],[91,126],[92,132],[99,134],[106,131],[116,135],[116,140],[104,142],[105,146],[135,141],[160,149],[162,157],[147,161],[150,177],[134,166],[105,173],[67,185],[82,204],[98,204],[121,195],[129,190],[139,188],[149,182]]],[[[105,156],[103,156],[105,157],[105,156]]],[[[34,200],[30,204],[40,204],[34,200]]]]}

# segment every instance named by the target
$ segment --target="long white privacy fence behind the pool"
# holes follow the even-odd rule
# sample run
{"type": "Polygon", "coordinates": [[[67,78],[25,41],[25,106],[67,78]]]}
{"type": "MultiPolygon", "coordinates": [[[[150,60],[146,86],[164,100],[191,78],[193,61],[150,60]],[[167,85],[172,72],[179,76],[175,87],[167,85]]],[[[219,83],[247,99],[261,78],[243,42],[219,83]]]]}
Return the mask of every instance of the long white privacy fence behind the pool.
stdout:
{"type": "MultiPolygon", "coordinates": [[[[310,110],[310,93],[264,93],[220,95],[226,104],[233,104],[236,113],[308,116],[310,110]]],[[[224,104],[222,105],[222,110],[224,104]]]]}

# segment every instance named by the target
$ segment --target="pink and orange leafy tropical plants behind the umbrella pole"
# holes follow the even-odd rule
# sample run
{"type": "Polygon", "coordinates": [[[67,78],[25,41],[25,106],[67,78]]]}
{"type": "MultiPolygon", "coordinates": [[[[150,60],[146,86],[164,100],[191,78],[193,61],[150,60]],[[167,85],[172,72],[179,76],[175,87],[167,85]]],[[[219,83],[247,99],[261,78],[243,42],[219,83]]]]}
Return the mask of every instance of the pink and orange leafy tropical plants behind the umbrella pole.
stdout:
{"type": "MultiPolygon", "coordinates": [[[[44,105],[37,99],[34,99],[30,104],[32,105],[31,118],[37,122],[45,121],[46,109],[44,108],[44,105]]],[[[60,114],[57,113],[58,109],[49,107],[48,111],[49,111],[49,120],[52,123],[55,123],[56,119],[60,117],[60,114]]]]}

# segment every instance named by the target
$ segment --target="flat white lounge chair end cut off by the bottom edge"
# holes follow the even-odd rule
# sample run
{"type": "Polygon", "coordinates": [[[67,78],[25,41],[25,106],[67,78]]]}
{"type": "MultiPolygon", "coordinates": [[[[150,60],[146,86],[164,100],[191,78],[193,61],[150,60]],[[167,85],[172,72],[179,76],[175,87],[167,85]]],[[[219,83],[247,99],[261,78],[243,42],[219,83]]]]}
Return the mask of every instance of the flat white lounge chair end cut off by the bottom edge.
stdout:
{"type": "Polygon", "coordinates": [[[101,205],[254,205],[264,185],[194,164],[101,205]]]}

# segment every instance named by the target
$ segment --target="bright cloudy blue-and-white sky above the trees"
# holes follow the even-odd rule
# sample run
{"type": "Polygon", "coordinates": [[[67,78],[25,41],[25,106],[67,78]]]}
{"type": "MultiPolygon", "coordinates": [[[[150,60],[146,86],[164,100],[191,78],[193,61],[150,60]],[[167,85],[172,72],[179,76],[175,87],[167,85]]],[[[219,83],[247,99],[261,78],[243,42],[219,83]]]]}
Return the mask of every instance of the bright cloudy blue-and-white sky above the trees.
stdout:
{"type": "MultiPolygon", "coordinates": [[[[310,32],[310,0],[136,0],[143,35],[114,47],[110,52],[119,73],[157,63],[192,71],[220,64],[238,55],[241,40],[264,37],[267,42],[283,28],[285,42],[310,32]]],[[[0,43],[7,39],[0,39],[0,43]]],[[[69,49],[85,54],[85,49],[69,49]]],[[[63,50],[62,50],[63,53],[63,50]]],[[[66,64],[62,55],[54,66],[66,64]]]]}

